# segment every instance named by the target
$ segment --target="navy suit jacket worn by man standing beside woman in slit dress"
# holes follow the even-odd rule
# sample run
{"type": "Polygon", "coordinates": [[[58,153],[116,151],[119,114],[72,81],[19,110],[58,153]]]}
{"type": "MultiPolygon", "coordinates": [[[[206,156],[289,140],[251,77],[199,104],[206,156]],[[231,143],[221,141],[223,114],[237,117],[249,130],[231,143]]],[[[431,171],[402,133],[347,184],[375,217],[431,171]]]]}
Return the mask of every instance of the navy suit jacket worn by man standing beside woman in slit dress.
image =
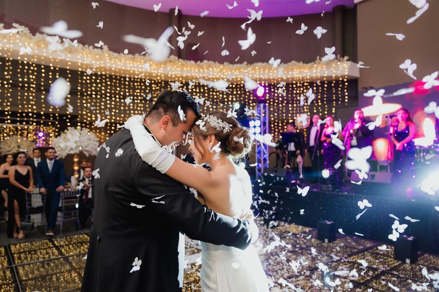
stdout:
{"type": "Polygon", "coordinates": [[[41,160],[37,168],[37,182],[39,188],[46,188],[55,192],[55,189],[65,183],[64,164],[60,160],[54,160],[52,172],[49,171],[47,160],[41,160]]]}

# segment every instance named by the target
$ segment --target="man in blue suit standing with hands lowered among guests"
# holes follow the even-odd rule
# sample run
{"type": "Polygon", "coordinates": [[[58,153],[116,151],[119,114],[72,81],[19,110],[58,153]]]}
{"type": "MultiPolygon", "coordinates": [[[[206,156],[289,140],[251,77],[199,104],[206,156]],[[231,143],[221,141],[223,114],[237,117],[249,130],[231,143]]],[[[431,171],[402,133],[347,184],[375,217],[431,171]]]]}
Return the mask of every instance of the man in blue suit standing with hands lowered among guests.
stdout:
{"type": "Polygon", "coordinates": [[[55,160],[56,153],[54,147],[47,148],[46,159],[41,161],[37,167],[38,186],[43,203],[45,201],[46,235],[48,236],[54,235],[58,206],[60,205],[60,192],[64,189],[65,181],[64,164],[62,161],[55,160]]]}

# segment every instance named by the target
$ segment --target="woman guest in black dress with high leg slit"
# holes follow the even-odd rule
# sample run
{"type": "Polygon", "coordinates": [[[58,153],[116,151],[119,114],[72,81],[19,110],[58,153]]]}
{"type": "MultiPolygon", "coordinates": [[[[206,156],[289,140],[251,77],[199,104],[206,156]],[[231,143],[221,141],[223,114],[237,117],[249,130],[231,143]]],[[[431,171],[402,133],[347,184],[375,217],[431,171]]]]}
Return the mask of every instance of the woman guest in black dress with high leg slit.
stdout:
{"type": "Polygon", "coordinates": [[[9,181],[11,183],[8,193],[8,237],[22,239],[23,231],[20,229],[21,219],[26,212],[26,192],[32,192],[34,188],[34,178],[32,168],[26,163],[26,154],[18,152],[15,154],[14,164],[9,168],[9,181]],[[19,230],[17,234],[16,228],[19,230]]]}

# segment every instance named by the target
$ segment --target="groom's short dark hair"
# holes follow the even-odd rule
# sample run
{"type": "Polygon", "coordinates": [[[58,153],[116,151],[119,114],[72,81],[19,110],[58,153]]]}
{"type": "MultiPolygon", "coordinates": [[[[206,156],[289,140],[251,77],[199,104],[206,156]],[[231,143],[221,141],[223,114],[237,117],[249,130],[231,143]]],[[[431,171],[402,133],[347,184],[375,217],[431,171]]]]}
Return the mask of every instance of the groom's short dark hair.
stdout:
{"type": "Polygon", "coordinates": [[[175,127],[182,122],[178,111],[179,106],[185,114],[187,110],[192,110],[196,118],[200,118],[200,108],[188,93],[170,90],[160,92],[151,110],[146,114],[146,117],[152,119],[153,122],[157,122],[164,115],[168,115],[171,117],[172,124],[175,127]]]}

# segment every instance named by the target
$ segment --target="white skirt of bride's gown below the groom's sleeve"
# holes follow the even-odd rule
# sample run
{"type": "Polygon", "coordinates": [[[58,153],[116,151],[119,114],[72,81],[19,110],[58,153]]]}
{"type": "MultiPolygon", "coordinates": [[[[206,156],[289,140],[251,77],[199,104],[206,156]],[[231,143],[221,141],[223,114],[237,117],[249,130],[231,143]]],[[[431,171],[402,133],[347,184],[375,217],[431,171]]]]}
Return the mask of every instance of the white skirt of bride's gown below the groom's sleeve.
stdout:
{"type": "Polygon", "coordinates": [[[268,292],[267,276],[253,245],[240,250],[201,242],[203,292],[268,292]]]}

